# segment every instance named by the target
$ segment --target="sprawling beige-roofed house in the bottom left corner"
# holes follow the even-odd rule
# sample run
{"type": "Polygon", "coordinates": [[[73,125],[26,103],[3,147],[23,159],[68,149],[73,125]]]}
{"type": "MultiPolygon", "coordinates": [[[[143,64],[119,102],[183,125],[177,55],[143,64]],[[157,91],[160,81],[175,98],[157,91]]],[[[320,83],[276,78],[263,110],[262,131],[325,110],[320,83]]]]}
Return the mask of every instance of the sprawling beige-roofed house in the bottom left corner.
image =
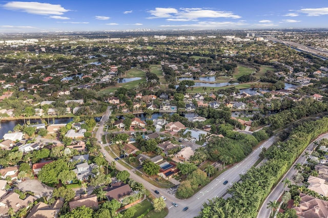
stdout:
{"type": "Polygon", "coordinates": [[[18,212],[19,209],[22,208],[29,208],[30,203],[36,201],[37,198],[29,195],[24,200],[19,198],[19,194],[16,192],[10,192],[5,197],[0,199],[0,216],[1,217],[8,217],[9,208],[12,208],[14,212],[18,212]]]}

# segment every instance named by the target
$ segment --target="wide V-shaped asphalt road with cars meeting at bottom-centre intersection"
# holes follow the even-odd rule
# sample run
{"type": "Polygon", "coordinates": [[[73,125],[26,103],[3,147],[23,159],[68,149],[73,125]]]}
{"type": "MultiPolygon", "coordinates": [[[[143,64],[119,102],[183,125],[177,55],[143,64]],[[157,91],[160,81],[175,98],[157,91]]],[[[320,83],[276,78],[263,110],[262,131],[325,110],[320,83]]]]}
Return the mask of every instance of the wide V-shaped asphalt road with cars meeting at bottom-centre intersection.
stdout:
{"type": "MultiPolygon", "coordinates": [[[[104,123],[106,123],[106,120],[110,116],[110,108],[107,109],[106,113],[104,114],[103,118],[101,118],[98,130],[96,132],[96,138],[101,141],[101,136],[103,135],[103,128],[104,128],[104,123]]],[[[271,137],[267,141],[265,141],[262,145],[263,147],[270,147],[274,143],[275,137],[271,137]]],[[[194,144],[194,143],[193,143],[194,144]]],[[[106,155],[106,159],[109,162],[114,161],[114,158],[112,158],[108,152],[104,149],[104,146],[106,144],[101,144],[101,151],[104,152],[106,155]]],[[[199,146],[199,145],[198,145],[199,146]]],[[[223,172],[219,177],[217,177],[214,181],[209,183],[207,186],[202,188],[199,192],[195,193],[193,197],[186,199],[186,200],[180,200],[175,198],[174,195],[168,193],[169,189],[161,189],[157,188],[156,186],[150,184],[149,182],[145,181],[141,177],[137,176],[134,171],[125,168],[125,166],[119,164],[116,161],[116,168],[118,170],[127,170],[130,175],[131,179],[140,182],[144,184],[145,188],[150,190],[156,197],[160,197],[163,195],[166,197],[166,203],[167,207],[169,208],[169,214],[167,217],[194,217],[197,216],[198,213],[200,212],[200,208],[202,207],[202,204],[204,202],[207,202],[208,199],[212,199],[214,197],[222,197],[227,189],[232,186],[233,183],[239,181],[240,174],[245,173],[249,168],[251,168],[254,163],[258,160],[258,155],[260,154],[261,149],[256,148],[247,158],[245,158],[243,161],[240,163],[236,164],[229,170],[223,172]],[[223,182],[228,180],[227,185],[223,185],[223,182]],[[154,190],[158,190],[159,194],[155,194],[154,190]],[[171,203],[176,202],[178,204],[178,207],[174,207],[171,203]],[[182,211],[184,207],[188,206],[189,209],[187,211],[182,211]]],[[[224,197],[227,197],[225,195],[224,197]]]]}

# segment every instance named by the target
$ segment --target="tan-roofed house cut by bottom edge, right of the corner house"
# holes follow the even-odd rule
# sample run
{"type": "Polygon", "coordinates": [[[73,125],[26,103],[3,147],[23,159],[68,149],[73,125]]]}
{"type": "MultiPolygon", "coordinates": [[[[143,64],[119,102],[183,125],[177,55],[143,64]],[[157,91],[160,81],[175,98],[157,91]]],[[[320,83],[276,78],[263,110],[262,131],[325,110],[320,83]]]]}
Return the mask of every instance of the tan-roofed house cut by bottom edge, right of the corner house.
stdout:
{"type": "Polygon", "coordinates": [[[26,218],[57,218],[61,208],[63,208],[64,202],[60,199],[55,201],[52,205],[45,204],[43,202],[37,203],[26,216],[26,218]]]}

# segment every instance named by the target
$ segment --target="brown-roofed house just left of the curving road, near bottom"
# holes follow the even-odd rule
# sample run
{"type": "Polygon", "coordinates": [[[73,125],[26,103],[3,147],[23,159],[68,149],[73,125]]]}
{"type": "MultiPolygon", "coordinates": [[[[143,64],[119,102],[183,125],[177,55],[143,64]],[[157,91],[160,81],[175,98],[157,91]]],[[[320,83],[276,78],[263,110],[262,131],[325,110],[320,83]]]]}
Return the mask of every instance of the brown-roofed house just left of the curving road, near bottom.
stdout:
{"type": "Polygon", "coordinates": [[[116,199],[119,202],[133,192],[130,186],[123,182],[111,183],[110,186],[103,190],[107,191],[106,197],[109,201],[116,199]]]}

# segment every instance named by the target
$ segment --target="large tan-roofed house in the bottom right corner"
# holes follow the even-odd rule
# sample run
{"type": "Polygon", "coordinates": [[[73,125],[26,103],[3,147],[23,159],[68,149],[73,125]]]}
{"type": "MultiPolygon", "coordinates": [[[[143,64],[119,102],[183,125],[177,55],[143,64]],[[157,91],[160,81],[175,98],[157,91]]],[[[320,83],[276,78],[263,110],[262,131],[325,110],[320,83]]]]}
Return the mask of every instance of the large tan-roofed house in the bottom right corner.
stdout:
{"type": "Polygon", "coordinates": [[[316,199],[310,195],[300,193],[301,201],[298,206],[293,206],[296,215],[300,218],[322,218],[328,216],[328,202],[316,199]]]}

